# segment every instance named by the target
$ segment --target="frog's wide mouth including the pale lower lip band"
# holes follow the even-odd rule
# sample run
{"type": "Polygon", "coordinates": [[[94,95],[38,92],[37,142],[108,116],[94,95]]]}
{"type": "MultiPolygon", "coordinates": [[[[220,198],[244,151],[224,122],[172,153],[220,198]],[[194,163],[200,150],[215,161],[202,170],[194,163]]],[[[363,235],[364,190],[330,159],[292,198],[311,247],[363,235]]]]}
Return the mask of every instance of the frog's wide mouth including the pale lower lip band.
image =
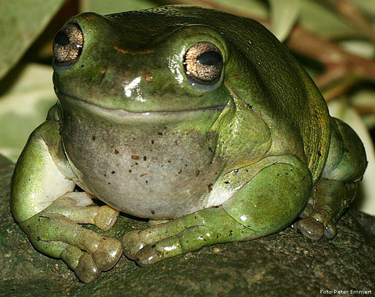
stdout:
{"type": "Polygon", "coordinates": [[[121,108],[108,108],[103,107],[93,102],[89,102],[84,99],[79,99],[70,95],[62,93],[57,88],[54,91],[59,99],[60,105],[66,110],[87,110],[89,113],[110,118],[116,122],[128,122],[128,121],[154,121],[155,117],[162,118],[164,121],[184,121],[191,120],[198,116],[218,116],[224,109],[231,106],[230,101],[225,105],[217,105],[204,107],[199,109],[187,109],[187,110],[150,110],[150,111],[130,111],[121,108]]]}

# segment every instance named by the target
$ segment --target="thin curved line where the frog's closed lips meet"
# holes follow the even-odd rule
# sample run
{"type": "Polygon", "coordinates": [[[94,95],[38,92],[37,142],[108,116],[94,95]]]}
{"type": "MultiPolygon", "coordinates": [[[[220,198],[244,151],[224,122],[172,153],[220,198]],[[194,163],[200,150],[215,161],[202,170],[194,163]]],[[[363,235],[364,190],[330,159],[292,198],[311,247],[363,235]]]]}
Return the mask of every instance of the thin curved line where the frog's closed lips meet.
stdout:
{"type": "Polygon", "coordinates": [[[89,102],[87,100],[79,99],[77,97],[67,95],[67,94],[61,92],[56,87],[54,87],[54,91],[55,91],[57,97],[58,97],[58,95],[63,95],[64,97],[66,97],[66,98],[68,98],[70,100],[81,102],[82,104],[85,104],[85,105],[88,105],[88,106],[93,106],[95,108],[104,109],[104,110],[106,110],[108,112],[115,112],[115,113],[117,113],[117,112],[123,112],[123,113],[129,114],[129,115],[168,115],[168,114],[176,114],[176,115],[178,115],[178,114],[182,114],[182,113],[186,114],[186,113],[189,113],[189,112],[199,112],[199,111],[206,111],[206,110],[218,110],[218,111],[222,111],[224,108],[230,107],[230,105],[231,105],[231,103],[229,101],[225,105],[209,106],[209,107],[203,107],[203,108],[197,108],[197,109],[131,111],[131,110],[126,110],[126,109],[122,109],[122,108],[107,108],[107,107],[103,107],[101,105],[89,102]]]}

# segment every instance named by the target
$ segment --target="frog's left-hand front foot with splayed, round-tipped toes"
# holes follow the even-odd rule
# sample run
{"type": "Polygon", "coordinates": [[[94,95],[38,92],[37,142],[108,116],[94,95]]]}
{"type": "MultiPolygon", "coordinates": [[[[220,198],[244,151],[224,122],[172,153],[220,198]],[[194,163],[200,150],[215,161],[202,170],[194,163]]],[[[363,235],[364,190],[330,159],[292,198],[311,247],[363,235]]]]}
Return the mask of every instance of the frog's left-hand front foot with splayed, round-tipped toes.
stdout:
{"type": "Polygon", "coordinates": [[[78,224],[95,224],[108,230],[116,221],[118,211],[107,205],[82,206],[83,202],[58,198],[20,225],[37,249],[61,258],[83,283],[90,283],[117,263],[122,247],[118,240],[78,224]]]}

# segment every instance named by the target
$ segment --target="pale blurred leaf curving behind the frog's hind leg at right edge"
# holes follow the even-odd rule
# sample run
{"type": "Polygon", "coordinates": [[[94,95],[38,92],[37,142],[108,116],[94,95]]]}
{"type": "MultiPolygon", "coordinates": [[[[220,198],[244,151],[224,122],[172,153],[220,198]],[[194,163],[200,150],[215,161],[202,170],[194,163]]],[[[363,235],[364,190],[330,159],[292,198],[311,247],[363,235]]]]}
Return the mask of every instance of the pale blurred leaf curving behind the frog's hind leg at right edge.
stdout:
{"type": "Polygon", "coordinates": [[[360,184],[362,197],[357,203],[359,203],[358,208],[361,211],[375,215],[375,150],[369,131],[355,108],[349,105],[348,100],[345,98],[330,101],[328,107],[331,116],[337,117],[350,125],[357,132],[365,146],[369,163],[360,184]]]}

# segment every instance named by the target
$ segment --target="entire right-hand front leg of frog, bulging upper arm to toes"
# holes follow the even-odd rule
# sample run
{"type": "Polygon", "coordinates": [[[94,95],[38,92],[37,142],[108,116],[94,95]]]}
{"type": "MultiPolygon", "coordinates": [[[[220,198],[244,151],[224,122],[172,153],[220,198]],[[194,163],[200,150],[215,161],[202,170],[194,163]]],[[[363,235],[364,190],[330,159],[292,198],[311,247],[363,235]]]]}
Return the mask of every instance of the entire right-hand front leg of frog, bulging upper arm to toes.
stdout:
{"type": "Polygon", "coordinates": [[[147,265],[208,245],[266,236],[293,222],[311,192],[311,172],[299,159],[266,157],[220,178],[210,194],[228,195],[223,204],[125,234],[124,253],[147,265]]]}

